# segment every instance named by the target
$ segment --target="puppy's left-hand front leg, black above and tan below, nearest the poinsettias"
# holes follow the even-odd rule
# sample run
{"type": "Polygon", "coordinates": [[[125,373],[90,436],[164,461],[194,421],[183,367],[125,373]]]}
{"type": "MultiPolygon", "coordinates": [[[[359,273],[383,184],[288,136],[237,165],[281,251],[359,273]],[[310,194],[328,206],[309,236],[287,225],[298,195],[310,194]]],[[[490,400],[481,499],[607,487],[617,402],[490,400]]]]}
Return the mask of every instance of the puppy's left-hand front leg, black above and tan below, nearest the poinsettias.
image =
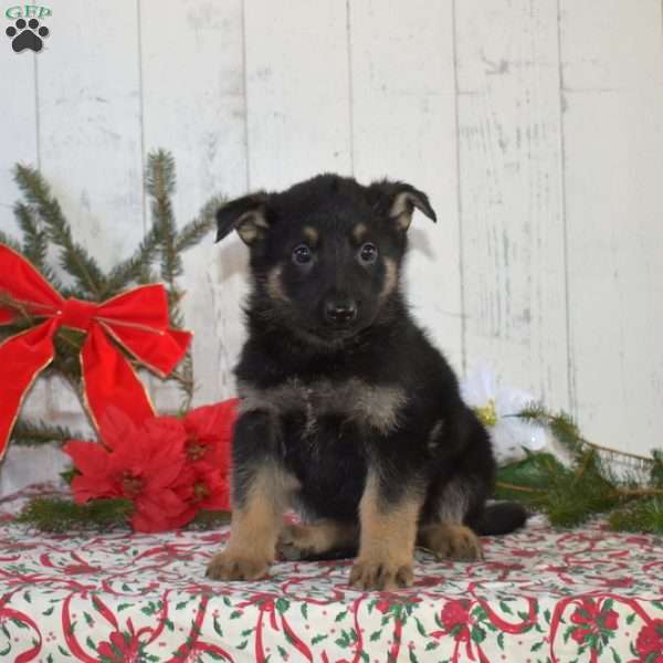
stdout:
{"type": "Polygon", "coordinates": [[[271,445],[271,417],[243,414],[233,446],[233,513],[230,541],[212,557],[207,575],[215,580],[262,578],[274,560],[283,514],[296,486],[271,445]]]}

